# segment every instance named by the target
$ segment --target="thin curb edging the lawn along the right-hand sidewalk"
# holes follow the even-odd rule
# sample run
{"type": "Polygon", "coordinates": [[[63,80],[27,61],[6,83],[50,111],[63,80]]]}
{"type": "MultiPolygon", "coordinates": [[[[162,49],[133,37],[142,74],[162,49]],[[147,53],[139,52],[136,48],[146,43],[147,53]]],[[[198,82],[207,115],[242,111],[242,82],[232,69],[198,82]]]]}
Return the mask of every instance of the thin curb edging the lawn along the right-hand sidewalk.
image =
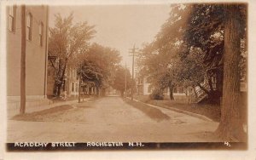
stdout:
{"type": "Polygon", "coordinates": [[[168,110],[177,111],[179,113],[183,113],[183,114],[186,114],[186,115],[189,115],[189,116],[192,116],[192,117],[197,117],[197,118],[200,118],[200,119],[205,120],[205,121],[214,122],[209,117],[205,117],[203,115],[196,114],[196,113],[193,113],[193,112],[190,112],[190,111],[183,111],[183,110],[180,110],[180,109],[177,109],[177,108],[173,108],[173,107],[170,107],[170,106],[154,106],[154,105],[151,105],[151,104],[148,104],[148,103],[144,103],[144,102],[136,100],[136,99],[133,99],[133,100],[137,101],[137,102],[140,102],[140,103],[143,103],[143,104],[148,105],[148,106],[166,108],[168,110]]]}

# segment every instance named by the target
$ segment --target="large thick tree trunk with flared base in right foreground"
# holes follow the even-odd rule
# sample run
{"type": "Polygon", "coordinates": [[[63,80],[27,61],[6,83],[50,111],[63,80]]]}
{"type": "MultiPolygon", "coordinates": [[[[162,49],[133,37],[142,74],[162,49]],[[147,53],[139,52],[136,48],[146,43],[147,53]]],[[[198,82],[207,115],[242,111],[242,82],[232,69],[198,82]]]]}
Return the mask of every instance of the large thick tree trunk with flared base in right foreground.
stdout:
{"type": "Polygon", "coordinates": [[[244,133],[238,105],[240,94],[239,5],[227,4],[225,16],[223,106],[217,133],[223,140],[241,141],[244,133]]]}

